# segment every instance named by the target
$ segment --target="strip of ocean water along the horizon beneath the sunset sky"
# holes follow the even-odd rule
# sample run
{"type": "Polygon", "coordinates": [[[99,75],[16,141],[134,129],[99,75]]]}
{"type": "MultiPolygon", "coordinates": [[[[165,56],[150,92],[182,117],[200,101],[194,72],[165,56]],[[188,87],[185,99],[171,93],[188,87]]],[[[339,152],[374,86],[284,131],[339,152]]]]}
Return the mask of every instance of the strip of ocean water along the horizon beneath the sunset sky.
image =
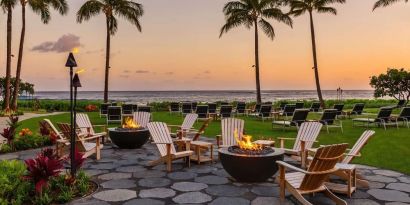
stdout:
{"type": "MultiPolygon", "coordinates": [[[[109,99],[121,102],[162,102],[162,101],[255,101],[255,91],[251,90],[218,90],[218,91],[111,91],[109,99]]],[[[325,99],[336,99],[336,90],[324,90],[325,99]]],[[[372,90],[345,90],[343,99],[373,99],[372,90]]],[[[62,91],[40,91],[36,92],[37,99],[69,99],[69,92],[62,91]]],[[[98,100],[103,99],[102,91],[79,91],[78,99],[98,100]]],[[[314,90],[264,90],[263,101],[278,100],[314,100],[317,99],[314,90]]]]}

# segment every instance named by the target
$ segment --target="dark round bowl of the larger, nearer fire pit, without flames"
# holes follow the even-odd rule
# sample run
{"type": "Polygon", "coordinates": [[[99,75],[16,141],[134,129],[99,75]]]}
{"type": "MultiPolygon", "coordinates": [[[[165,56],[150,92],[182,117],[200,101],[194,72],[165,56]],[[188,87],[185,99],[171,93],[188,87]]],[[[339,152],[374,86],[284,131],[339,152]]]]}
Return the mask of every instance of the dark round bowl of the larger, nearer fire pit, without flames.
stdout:
{"type": "Polygon", "coordinates": [[[264,182],[278,171],[276,161],[284,158],[284,151],[273,148],[267,154],[238,154],[228,150],[218,150],[223,168],[239,182],[264,182]]]}

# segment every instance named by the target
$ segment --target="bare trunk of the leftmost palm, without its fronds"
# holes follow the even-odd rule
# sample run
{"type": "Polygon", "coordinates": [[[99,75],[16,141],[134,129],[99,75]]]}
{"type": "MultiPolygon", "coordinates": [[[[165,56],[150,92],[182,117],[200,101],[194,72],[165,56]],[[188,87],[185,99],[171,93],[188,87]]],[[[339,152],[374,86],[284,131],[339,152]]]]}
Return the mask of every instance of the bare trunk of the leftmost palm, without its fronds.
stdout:
{"type": "Polygon", "coordinates": [[[11,35],[12,35],[12,17],[13,8],[7,8],[7,63],[6,63],[6,94],[4,96],[4,109],[10,110],[10,78],[11,78],[11,35]]]}

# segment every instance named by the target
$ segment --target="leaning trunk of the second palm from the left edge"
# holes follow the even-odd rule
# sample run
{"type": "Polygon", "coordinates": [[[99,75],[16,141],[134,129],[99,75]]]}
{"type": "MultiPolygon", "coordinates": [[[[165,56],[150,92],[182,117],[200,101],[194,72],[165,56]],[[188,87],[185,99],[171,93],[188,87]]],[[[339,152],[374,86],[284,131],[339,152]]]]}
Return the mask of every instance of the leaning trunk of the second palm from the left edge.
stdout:
{"type": "Polygon", "coordinates": [[[24,49],[24,38],[26,35],[26,3],[25,0],[21,1],[21,34],[20,34],[20,47],[19,47],[19,56],[17,60],[17,69],[16,69],[16,81],[14,85],[13,93],[13,110],[17,110],[17,100],[20,91],[20,75],[21,75],[21,64],[23,61],[23,49],[24,49]]]}

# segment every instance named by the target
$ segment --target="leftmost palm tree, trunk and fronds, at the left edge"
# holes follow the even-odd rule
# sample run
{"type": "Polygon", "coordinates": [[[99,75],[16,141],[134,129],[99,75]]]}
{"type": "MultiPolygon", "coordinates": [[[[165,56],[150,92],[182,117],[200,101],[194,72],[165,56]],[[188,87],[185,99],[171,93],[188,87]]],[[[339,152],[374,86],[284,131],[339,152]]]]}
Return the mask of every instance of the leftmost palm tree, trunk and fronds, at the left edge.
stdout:
{"type": "Polygon", "coordinates": [[[11,35],[13,23],[13,8],[17,4],[17,0],[1,0],[0,7],[7,13],[7,52],[6,52],[6,92],[4,95],[3,108],[6,113],[10,110],[10,78],[11,78],[11,35]]]}

